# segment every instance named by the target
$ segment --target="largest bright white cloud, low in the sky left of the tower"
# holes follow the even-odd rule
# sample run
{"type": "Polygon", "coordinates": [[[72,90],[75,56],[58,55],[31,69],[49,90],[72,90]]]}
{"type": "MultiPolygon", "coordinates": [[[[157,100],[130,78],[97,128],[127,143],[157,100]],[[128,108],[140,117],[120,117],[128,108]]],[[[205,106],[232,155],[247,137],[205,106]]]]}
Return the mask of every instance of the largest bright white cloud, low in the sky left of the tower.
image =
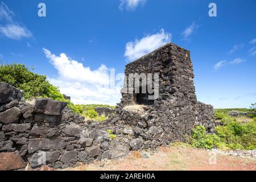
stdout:
{"type": "Polygon", "coordinates": [[[65,53],[56,56],[46,48],[43,51],[58,71],[56,78],[48,78],[49,82],[59,86],[61,93],[71,96],[71,101],[75,104],[115,105],[120,101],[121,84],[114,88],[109,86],[110,69],[105,65],[91,70],[65,53]]]}

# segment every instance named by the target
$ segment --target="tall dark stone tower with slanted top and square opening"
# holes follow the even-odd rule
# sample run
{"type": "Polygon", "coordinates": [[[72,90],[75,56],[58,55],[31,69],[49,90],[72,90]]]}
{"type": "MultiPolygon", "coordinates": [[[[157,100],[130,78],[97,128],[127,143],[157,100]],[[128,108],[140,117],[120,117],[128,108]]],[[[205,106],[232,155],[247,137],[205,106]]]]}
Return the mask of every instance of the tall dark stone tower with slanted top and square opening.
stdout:
{"type": "MultiPolygon", "coordinates": [[[[197,125],[204,125],[209,133],[214,132],[213,106],[197,102],[189,51],[166,44],[126,65],[125,75],[128,77],[129,73],[159,74],[159,98],[154,104],[148,105],[143,114],[126,111],[126,105],[136,104],[137,94],[122,93],[117,107],[118,119],[115,119],[118,122],[112,122],[117,130],[120,123],[130,125],[133,138],[144,141],[141,148],[184,141],[197,125]]],[[[124,85],[128,84],[129,80],[124,85]]]]}

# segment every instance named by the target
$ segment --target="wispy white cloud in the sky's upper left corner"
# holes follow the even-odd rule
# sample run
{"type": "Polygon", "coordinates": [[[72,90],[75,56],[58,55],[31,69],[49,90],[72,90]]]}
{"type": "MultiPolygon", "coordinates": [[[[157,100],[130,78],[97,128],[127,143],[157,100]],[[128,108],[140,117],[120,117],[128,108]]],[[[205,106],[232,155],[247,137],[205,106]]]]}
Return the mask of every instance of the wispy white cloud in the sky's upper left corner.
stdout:
{"type": "Polygon", "coordinates": [[[5,3],[0,3],[0,34],[10,39],[19,40],[21,38],[30,38],[32,34],[26,27],[15,22],[14,13],[5,3]]]}

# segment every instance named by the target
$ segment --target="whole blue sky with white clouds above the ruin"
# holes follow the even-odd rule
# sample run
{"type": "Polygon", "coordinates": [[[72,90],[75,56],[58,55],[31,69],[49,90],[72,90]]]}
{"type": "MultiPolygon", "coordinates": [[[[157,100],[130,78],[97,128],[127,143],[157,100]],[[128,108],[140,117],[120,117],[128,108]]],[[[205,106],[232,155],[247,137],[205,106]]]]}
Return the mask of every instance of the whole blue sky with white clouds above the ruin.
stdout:
{"type": "Polygon", "coordinates": [[[0,59],[35,67],[75,103],[119,102],[117,74],[167,42],[191,51],[199,101],[256,102],[254,0],[0,0],[0,59]],[[208,15],[211,2],[217,17],[208,15]],[[112,68],[117,85],[106,89],[112,68]]]}

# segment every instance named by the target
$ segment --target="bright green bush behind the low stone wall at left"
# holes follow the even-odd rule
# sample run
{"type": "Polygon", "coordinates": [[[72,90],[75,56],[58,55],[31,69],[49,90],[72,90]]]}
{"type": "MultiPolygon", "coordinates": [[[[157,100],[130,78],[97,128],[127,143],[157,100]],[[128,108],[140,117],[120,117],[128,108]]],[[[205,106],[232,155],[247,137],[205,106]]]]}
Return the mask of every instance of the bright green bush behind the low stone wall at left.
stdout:
{"type": "Polygon", "coordinates": [[[24,64],[2,64],[0,67],[0,81],[7,82],[23,90],[23,98],[32,100],[36,97],[51,98],[52,100],[68,102],[74,113],[80,113],[72,102],[65,100],[60,90],[47,81],[45,75],[31,72],[24,64]]]}

